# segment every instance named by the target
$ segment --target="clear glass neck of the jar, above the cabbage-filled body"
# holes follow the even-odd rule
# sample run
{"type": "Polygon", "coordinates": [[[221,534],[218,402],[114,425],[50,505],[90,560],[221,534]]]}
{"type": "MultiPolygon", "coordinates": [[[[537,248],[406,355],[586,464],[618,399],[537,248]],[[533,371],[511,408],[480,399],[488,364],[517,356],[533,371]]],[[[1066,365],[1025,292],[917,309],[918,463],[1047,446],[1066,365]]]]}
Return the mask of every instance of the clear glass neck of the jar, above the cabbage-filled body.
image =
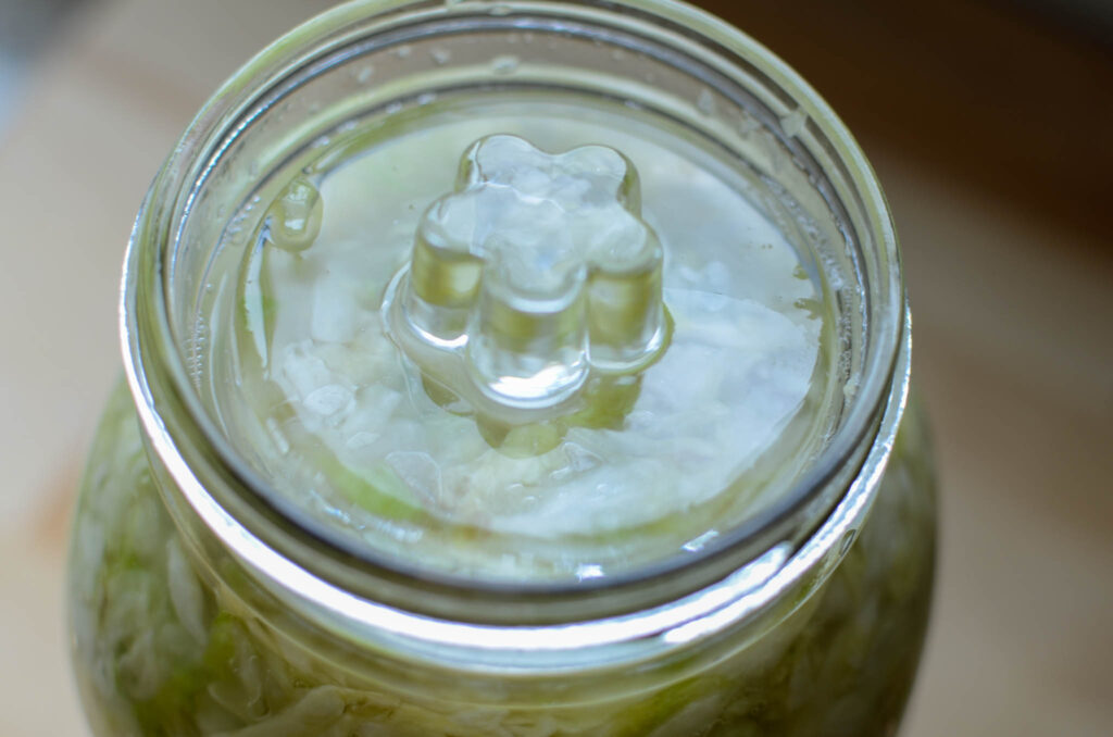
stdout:
{"type": "MultiPolygon", "coordinates": [[[[442,87],[513,90],[544,81],[540,71],[475,79],[470,66],[437,71],[436,57],[427,58],[422,71],[442,87]]],[[[708,641],[739,621],[759,628],[764,615],[780,616],[774,612],[786,591],[820,582],[871,503],[908,375],[895,235],[861,151],[768,51],[666,0],[357,2],[295,30],[214,96],[156,178],[129,245],[121,333],[164,493],[185,501],[171,509],[191,518],[179,523],[199,523],[283,606],[329,631],[430,662],[447,657],[474,668],[553,674],[599,662],[600,650],[612,662],[643,659],[708,641]],[[384,59],[424,59],[413,48],[469,33],[484,35],[484,45],[473,46],[499,57],[500,43],[523,32],[569,45],[565,66],[580,52],[583,67],[565,69],[562,83],[619,90],[630,105],[698,119],[701,135],[749,161],[770,191],[790,200],[778,204],[786,214],[778,225],[816,249],[839,309],[834,385],[846,400],[798,488],[700,556],[575,586],[476,583],[346,547],[270,492],[217,429],[196,381],[204,371],[193,341],[205,275],[221,257],[219,234],[205,224],[227,220],[226,204],[289,156],[279,143],[313,140],[361,110],[415,100],[412,65],[384,59]],[[403,48],[410,50],[400,56],[403,48]],[[589,48],[599,59],[588,58],[589,48]],[[619,53],[641,66],[623,69],[619,53]],[[373,59],[385,71],[368,90],[356,82],[373,59]],[[588,73],[592,65],[608,73],[588,73]]]]}

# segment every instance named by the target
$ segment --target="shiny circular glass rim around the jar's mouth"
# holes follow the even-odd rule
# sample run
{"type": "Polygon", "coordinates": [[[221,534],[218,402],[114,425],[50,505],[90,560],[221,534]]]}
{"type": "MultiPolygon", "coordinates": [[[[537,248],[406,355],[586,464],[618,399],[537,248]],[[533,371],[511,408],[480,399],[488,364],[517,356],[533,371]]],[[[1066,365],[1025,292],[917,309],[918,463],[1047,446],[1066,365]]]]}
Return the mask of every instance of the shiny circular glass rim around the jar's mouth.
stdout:
{"type": "MultiPolygon", "coordinates": [[[[736,58],[745,58],[758,66],[772,83],[791,97],[796,104],[806,108],[809,118],[815,121],[815,126],[834,147],[849,173],[857,194],[866,208],[873,243],[885,252],[884,255],[887,258],[889,268],[883,276],[889,281],[884,291],[888,299],[885,304],[874,305],[879,308],[876,318],[871,318],[869,324],[870,352],[867,354],[869,360],[864,372],[864,380],[847,420],[835,433],[819,460],[791,493],[787,494],[767,513],[756,518],[754,524],[745,525],[722,535],[721,539],[716,540],[713,544],[709,544],[699,553],[683,559],[668,559],[661,563],[620,573],[613,578],[536,584],[510,584],[441,577],[423,569],[406,569],[398,566],[397,561],[376,559],[371,552],[364,553],[370,558],[370,561],[364,559],[359,562],[370,563],[375,573],[385,573],[395,580],[412,580],[423,587],[432,587],[450,593],[479,593],[492,600],[500,598],[519,600],[531,597],[535,600],[551,600],[562,597],[582,600],[585,597],[623,589],[644,588],[676,573],[703,567],[705,571],[715,570],[717,572],[711,577],[711,581],[705,579],[701,581],[707,584],[715,581],[720,583],[733,581],[727,589],[733,591],[735,598],[737,598],[739,592],[750,591],[755,586],[768,581],[777,570],[785,569],[789,558],[796,559],[800,551],[781,551],[785,553],[784,556],[778,553],[774,558],[769,558],[769,554],[778,549],[777,534],[774,532],[784,530],[784,525],[788,521],[794,519],[798,521],[805,511],[814,509],[821,492],[831,484],[836,476],[845,473],[846,460],[853,458],[859,449],[863,449],[864,444],[868,448],[869,453],[860,461],[861,465],[855,476],[855,483],[863,479],[867,482],[871,480],[871,483],[867,483],[859,490],[865,495],[855,501],[855,509],[860,511],[868,508],[877,478],[880,475],[879,470],[884,468],[888,450],[892,448],[893,435],[895,435],[899,414],[904,406],[904,393],[907,391],[907,346],[905,343],[908,338],[905,325],[905,296],[900,282],[896,235],[887,204],[865,155],[841,121],[795,71],[764,47],[725,21],[673,0],[619,0],[618,2],[565,0],[546,3],[531,2],[530,0],[480,3],[464,0],[447,4],[430,0],[355,0],[290,31],[237,71],[194,119],[156,177],[140,208],[128,247],[120,306],[125,367],[140,419],[154,451],[167,466],[177,485],[186,492],[194,509],[198,512],[204,509],[201,515],[206,523],[217,532],[226,544],[236,550],[242,559],[253,560],[254,557],[255,562],[262,566],[260,570],[268,572],[274,578],[280,579],[285,576],[287,581],[299,580],[303,587],[299,593],[314,601],[313,606],[318,613],[327,611],[331,612],[332,617],[338,616],[337,607],[342,597],[337,597],[345,593],[344,587],[337,587],[333,582],[317,577],[315,572],[305,570],[276,551],[270,550],[277,556],[277,559],[260,552],[263,549],[269,550],[267,542],[247,530],[234,513],[221,507],[209,494],[206,484],[195,473],[193,460],[187,461],[186,454],[183,453],[183,438],[173,431],[175,422],[174,419],[168,417],[168,414],[175,413],[175,410],[169,407],[171,404],[176,404],[183,410],[181,414],[187,417],[186,422],[198,428],[207,439],[211,445],[210,450],[215,451],[217,463],[223,463],[225,478],[242,484],[246,492],[255,494],[255,501],[265,497],[260,492],[260,488],[266,485],[265,481],[247,468],[247,464],[238,458],[235,451],[226,443],[220,442],[220,434],[215,430],[200,399],[196,395],[193,384],[188,380],[185,362],[174,341],[174,328],[167,302],[169,295],[166,294],[166,272],[173,265],[168,266],[165,263],[166,255],[162,253],[164,246],[173,245],[173,234],[167,232],[166,226],[171,222],[175,210],[188,209],[189,207],[188,200],[184,198],[188,196],[186,190],[194,185],[188,176],[193,171],[190,165],[196,163],[198,157],[209,153],[207,143],[214,138],[213,131],[218,130],[223,136],[221,126],[227,126],[229,121],[243,115],[250,107],[252,101],[267,89],[266,86],[259,85],[258,80],[273,80],[276,68],[289,65],[292,59],[297,58],[297,55],[306,49],[312,49],[319,55],[331,45],[339,43],[341,31],[354,21],[377,16],[385,18],[411,10],[430,8],[440,8],[445,12],[451,12],[453,9],[464,6],[481,4],[498,4],[498,7],[505,9],[531,9],[543,4],[549,13],[556,12],[561,8],[605,8],[626,17],[640,17],[652,22],[667,23],[682,29],[687,36],[712,45],[720,52],[733,55],[736,58]],[[169,237],[167,238],[167,236],[169,237]],[[144,301],[142,304],[152,305],[155,309],[151,313],[140,314],[142,311],[139,305],[144,297],[150,297],[149,302],[144,301]],[[165,382],[160,386],[152,386],[154,382],[150,381],[151,374],[155,372],[165,374],[165,382]],[[173,402],[161,396],[168,392],[174,394],[173,402]],[[897,397],[895,406],[894,397],[897,397]],[[896,413],[895,419],[890,416],[893,412],[896,413]],[[885,415],[884,420],[883,414],[885,415]],[[758,544],[761,540],[774,542],[758,544]],[[269,562],[264,563],[263,558],[269,562]],[[711,566],[715,561],[718,561],[719,567],[712,569],[711,566]],[[776,564],[770,569],[774,563],[776,564]],[[286,564],[293,568],[287,568],[286,564]],[[302,578],[301,573],[294,570],[295,568],[307,578],[302,578]],[[761,580],[758,581],[758,579],[761,580]]],[[[500,10],[500,12],[502,11],[500,10]]],[[[214,159],[218,155],[219,151],[216,151],[214,159]]],[[[846,503],[850,497],[850,489],[847,488],[844,491],[846,493],[843,495],[841,502],[846,503]]],[[[835,512],[831,510],[836,507],[835,501],[838,500],[833,500],[823,510],[825,514],[830,515],[829,519],[834,519],[835,512]]],[[[274,510],[270,509],[270,511],[274,510]]],[[[289,510],[278,510],[278,512],[279,518],[299,531],[304,532],[311,527],[306,524],[306,520],[297,519],[296,515],[290,514],[289,510]]],[[[335,544],[335,541],[327,539],[322,541],[319,532],[311,530],[308,537],[326,547],[336,548],[346,558],[352,557],[353,551],[342,550],[339,546],[335,544]]],[[[364,556],[358,556],[358,558],[364,558],[364,556]]],[[[695,596],[696,593],[706,593],[706,591],[707,589],[701,584],[686,593],[695,596]]],[[[682,598],[670,597],[670,600],[682,598]]],[[[355,597],[355,599],[365,601],[359,597],[355,597]]],[[[361,607],[354,607],[352,601],[348,601],[348,605],[352,606],[345,605],[346,609],[345,607],[341,607],[341,609],[348,613],[361,609],[361,607]]],[[[646,611],[642,613],[647,613],[652,610],[652,607],[639,606],[637,609],[644,609],[646,611]]],[[[370,616],[368,611],[364,613],[370,616]]],[[[378,623],[382,623],[383,616],[383,611],[375,610],[374,618],[378,623]]],[[[400,612],[400,616],[404,617],[405,612],[400,612]]],[[[401,622],[401,620],[398,621],[401,622]]],[[[424,618],[425,623],[421,627],[426,635],[431,631],[430,621],[427,617],[424,618]]],[[[657,626],[652,625],[652,627],[657,626]]],[[[597,628],[597,632],[588,639],[627,638],[634,632],[629,622],[620,629],[623,631],[607,635],[604,630],[597,628]]],[[[452,639],[457,635],[460,632],[450,637],[449,630],[445,630],[444,637],[452,639]]],[[[440,636],[436,639],[440,641],[440,636]]],[[[475,632],[472,631],[464,641],[474,642],[475,632]]],[[[512,646],[506,645],[503,639],[499,647],[512,646]]]]}

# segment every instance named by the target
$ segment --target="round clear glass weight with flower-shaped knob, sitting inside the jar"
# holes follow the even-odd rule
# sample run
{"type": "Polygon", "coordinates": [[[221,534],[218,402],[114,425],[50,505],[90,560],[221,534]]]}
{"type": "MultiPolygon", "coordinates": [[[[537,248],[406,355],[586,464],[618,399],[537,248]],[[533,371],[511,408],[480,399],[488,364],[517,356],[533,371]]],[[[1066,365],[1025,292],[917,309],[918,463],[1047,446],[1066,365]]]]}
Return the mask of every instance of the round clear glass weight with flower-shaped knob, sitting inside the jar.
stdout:
{"type": "MultiPolygon", "coordinates": [[[[809,244],[751,204],[751,173],[688,128],[581,94],[476,91],[382,125],[273,175],[317,183],[311,246],[292,250],[258,196],[235,220],[247,247],[238,230],[224,246],[242,265],[210,268],[198,382],[276,497],[357,552],[568,583],[691,558],[791,493],[829,442],[836,317],[809,244]],[[589,193],[610,207],[578,214],[568,194],[453,189],[491,136],[544,166],[610,153],[646,219],[613,183],[589,193]],[[445,245],[452,228],[484,256],[445,245]],[[634,242],[630,274],[615,237],[634,242]],[[630,292],[656,311],[647,355],[600,366],[623,320],[634,336],[646,323],[623,314],[630,292]]],[[[585,181],[560,177],[569,193],[585,181]]]]}

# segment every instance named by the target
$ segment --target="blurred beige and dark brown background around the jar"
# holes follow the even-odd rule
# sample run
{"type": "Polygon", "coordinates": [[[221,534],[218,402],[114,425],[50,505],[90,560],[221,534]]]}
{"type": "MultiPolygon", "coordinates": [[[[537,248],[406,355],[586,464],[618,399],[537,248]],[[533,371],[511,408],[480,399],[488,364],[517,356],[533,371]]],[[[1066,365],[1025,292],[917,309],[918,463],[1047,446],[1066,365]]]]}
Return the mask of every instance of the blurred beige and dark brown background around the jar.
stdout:
{"type": "MultiPolygon", "coordinates": [[[[120,257],[215,87],[324,0],[0,0],[0,735],[85,736],[62,563],[120,257]]],[[[942,476],[905,730],[1113,725],[1113,1],[701,2],[843,116],[900,233],[942,476]]]]}

